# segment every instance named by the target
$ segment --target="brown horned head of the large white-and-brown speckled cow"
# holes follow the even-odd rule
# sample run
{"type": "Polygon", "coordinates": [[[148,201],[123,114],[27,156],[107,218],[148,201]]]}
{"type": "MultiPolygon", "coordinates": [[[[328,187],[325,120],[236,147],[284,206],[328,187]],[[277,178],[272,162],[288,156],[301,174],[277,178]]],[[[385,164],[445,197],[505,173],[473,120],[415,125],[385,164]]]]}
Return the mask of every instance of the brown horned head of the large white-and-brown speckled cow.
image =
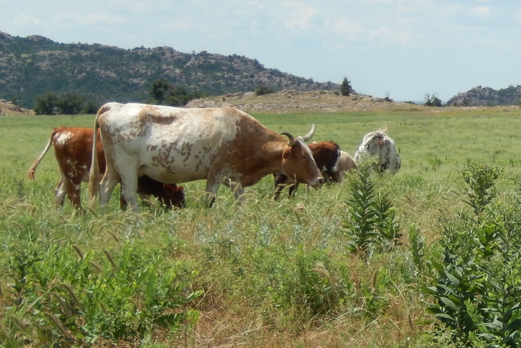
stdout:
{"type": "Polygon", "coordinates": [[[282,152],[282,169],[283,174],[297,182],[318,187],[324,184],[324,178],[318,170],[311,150],[306,145],[306,141],[314,134],[315,125],[311,126],[311,131],[304,137],[294,138],[289,133],[281,133],[289,138],[288,146],[282,152]]]}

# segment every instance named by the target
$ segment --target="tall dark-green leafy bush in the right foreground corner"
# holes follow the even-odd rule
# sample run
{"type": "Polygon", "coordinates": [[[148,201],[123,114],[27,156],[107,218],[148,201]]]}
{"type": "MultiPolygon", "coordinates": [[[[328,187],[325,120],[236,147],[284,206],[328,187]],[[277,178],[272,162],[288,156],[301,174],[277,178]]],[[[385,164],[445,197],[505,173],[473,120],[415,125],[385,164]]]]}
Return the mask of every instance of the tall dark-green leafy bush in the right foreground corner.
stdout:
{"type": "Polygon", "coordinates": [[[433,286],[423,290],[436,301],[428,311],[455,339],[514,347],[521,341],[521,209],[517,198],[493,204],[499,174],[466,163],[461,175],[472,212],[445,221],[441,258],[430,260],[433,286]]]}

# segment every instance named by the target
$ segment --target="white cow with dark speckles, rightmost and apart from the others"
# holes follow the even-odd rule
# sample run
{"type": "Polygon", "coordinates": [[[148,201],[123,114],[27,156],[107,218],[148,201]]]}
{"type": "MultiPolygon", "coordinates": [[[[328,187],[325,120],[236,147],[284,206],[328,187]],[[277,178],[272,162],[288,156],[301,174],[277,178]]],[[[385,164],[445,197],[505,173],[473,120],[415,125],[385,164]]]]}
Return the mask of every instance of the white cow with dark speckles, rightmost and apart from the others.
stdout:
{"type": "Polygon", "coordinates": [[[378,158],[376,172],[383,173],[388,170],[396,174],[402,166],[402,159],[396,151],[394,140],[386,134],[386,131],[387,126],[364,135],[356,149],[354,160],[359,163],[365,155],[376,156],[378,158]]]}

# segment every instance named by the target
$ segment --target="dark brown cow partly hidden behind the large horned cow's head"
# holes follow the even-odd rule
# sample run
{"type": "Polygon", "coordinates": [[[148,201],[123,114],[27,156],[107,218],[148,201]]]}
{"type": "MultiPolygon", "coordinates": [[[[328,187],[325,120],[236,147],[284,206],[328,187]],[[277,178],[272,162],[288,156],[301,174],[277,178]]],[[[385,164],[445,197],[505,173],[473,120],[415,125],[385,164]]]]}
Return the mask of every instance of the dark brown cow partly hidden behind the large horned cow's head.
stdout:
{"type": "MultiPolygon", "coordinates": [[[[314,142],[308,145],[313,154],[320,174],[324,176],[326,183],[338,182],[338,164],[340,160],[340,146],[334,141],[314,142]]],[[[295,196],[295,191],[299,188],[299,181],[284,174],[274,174],[275,194],[277,200],[284,187],[289,186],[290,197],[295,196]]]]}

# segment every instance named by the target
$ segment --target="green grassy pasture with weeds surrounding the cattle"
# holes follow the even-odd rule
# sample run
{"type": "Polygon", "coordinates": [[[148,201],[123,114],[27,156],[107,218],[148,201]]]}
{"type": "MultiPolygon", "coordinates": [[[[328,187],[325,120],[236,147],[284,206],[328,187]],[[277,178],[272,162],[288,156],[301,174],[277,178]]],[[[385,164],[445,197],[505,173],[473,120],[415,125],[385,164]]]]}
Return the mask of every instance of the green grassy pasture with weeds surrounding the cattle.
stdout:
{"type": "Polygon", "coordinates": [[[250,112],[278,133],[303,135],[315,123],[314,141],[351,155],[387,124],[401,170],[367,174],[372,191],[352,175],[279,201],[267,176],[242,205],[221,186],[211,209],[204,182],[184,183],[186,209],[140,214],[119,210],[118,189],[105,211],[80,215],[68,200],[57,210],[53,150],[26,178],[54,127],[91,127],[94,116],[0,117],[0,342],[444,347],[512,345],[511,337],[518,345],[521,111],[438,109],[250,112]],[[360,234],[367,221],[353,214],[364,209],[357,192],[378,202],[380,220],[370,219],[391,238],[360,234]],[[497,286],[479,293],[489,283],[497,286]],[[487,308],[502,301],[496,311],[479,303],[487,296],[487,308]]]}

